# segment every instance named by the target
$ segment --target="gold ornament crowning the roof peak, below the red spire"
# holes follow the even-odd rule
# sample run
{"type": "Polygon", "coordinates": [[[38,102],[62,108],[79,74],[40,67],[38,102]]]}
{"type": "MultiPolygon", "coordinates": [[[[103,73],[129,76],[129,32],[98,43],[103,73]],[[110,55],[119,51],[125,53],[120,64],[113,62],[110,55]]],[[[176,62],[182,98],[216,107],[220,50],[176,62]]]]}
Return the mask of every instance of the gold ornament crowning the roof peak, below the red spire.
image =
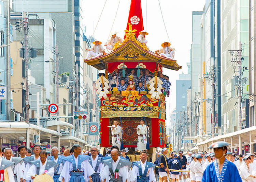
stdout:
{"type": "Polygon", "coordinates": [[[129,40],[133,41],[134,43],[136,43],[137,45],[139,45],[142,49],[148,51],[147,46],[144,43],[141,43],[140,41],[138,41],[136,39],[135,33],[137,30],[133,29],[132,30],[132,24],[128,23],[129,25],[129,30],[125,30],[125,32],[127,32],[126,37],[124,39],[124,41],[121,43],[120,41],[116,42],[114,47],[113,47],[113,51],[120,48],[122,45],[124,45],[126,42],[128,42],[129,40]]]}

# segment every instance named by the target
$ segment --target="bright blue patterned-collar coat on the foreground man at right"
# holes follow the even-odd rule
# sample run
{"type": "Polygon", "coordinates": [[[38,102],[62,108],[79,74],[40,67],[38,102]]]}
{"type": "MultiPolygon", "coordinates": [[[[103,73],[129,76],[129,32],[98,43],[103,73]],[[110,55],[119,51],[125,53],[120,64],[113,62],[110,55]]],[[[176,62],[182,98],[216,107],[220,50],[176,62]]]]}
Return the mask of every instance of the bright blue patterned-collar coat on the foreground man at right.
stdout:
{"type": "Polygon", "coordinates": [[[225,159],[221,174],[215,160],[203,172],[202,182],[242,182],[236,165],[225,159]]]}

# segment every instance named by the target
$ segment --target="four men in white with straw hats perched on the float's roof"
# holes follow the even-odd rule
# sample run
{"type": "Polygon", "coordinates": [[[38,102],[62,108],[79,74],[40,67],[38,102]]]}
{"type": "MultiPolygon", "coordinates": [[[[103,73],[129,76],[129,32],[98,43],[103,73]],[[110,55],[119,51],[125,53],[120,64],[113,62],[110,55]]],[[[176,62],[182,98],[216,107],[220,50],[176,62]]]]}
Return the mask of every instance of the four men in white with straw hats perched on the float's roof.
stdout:
{"type": "MultiPolygon", "coordinates": [[[[108,41],[104,44],[104,46],[106,47],[106,49],[110,52],[113,51],[114,45],[117,42],[122,43],[123,39],[118,37],[116,34],[118,32],[112,32],[110,34],[110,38],[108,39],[108,41]]],[[[145,39],[145,35],[148,35],[148,33],[146,31],[141,31],[140,35],[138,36],[137,40],[139,42],[141,42],[142,44],[147,44],[147,40],[145,39]]],[[[107,53],[105,52],[105,49],[103,47],[102,42],[99,40],[95,40],[93,41],[94,46],[90,49],[86,49],[86,51],[88,50],[88,54],[86,56],[86,60],[88,59],[94,59],[97,57],[100,57],[102,55],[106,55],[107,53]]],[[[156,50],[154,54],[164,57],[164,58],[168,58],[168,59],[173,59],[174,58],[174,49],[171,47],[171,43],[170,42],[163,42],[161,44],[161,49],[156,50]]],[[[151,51],[150,51],[151,52],[151,51]]],[[[153,52],[151,52],[153,53],[153,52]]]]}

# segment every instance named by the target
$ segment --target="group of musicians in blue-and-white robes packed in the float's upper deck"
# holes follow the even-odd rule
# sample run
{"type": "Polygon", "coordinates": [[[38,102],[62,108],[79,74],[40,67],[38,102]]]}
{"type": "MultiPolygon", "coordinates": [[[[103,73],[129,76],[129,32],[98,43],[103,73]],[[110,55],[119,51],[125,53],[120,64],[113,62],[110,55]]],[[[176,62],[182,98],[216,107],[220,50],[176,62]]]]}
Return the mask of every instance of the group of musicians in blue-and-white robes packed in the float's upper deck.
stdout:
{"type": "MultiPolygon", "coordinates": [[[[109,74],[108,80],[110,90],[112,91],[114,88],[117,88],[118,91],[148,91],[148,87],[150,86],[149,81],[154,77],[153,74],[147,69],[140,69],[140,76],[135,74],[135,72],[137,72],[137,69],[125,69],[125,73],[123,75],[122,69],[116,69],[113,73],[109,74]]],[[[99,73],[98,76],[100,77],[101,75],[105,76],[104,73],[99,73]]],[[[163,91],[165,91],[167,96],[169,96],[171,87],[169,76],[158,72],[158,77],[163,82],[163,84],[161,84],[163,91]]]]}

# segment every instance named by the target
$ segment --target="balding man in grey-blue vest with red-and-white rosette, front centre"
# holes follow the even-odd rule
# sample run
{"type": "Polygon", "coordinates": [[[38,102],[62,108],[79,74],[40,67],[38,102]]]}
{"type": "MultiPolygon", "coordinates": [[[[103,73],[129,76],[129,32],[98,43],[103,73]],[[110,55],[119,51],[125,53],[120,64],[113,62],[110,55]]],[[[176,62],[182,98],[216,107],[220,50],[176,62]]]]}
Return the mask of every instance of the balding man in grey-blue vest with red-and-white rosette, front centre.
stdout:
{"type": "Polygon", "coordinates": [[[101,173],[103,182],[129,182],[134,181],[129,177],[131,162],[119,157],[119,151],[113,149],[111,151],[111,159],[104,160],[105,167],[101,173]]]}

